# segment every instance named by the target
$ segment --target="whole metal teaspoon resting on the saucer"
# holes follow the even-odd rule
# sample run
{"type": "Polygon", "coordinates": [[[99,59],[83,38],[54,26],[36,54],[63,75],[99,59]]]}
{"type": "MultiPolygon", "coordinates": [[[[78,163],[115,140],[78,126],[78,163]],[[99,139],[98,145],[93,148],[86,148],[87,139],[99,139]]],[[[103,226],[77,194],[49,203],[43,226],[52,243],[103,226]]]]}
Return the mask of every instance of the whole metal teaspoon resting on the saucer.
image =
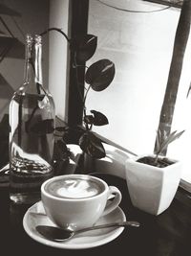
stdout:
{"type": "Polygon", "coordinates": [[[112,226],[135,226],[138,227],[138,221],[121,221],[121,222],[114,222],[102,225],[95,225],[79,230],[70,230],[70,229],[63,229],[60,227],[55,226],[48,226],[48,225],[37,225],[36,230],[46,239],[56,241],[56,242],[64,242],[72,239],[74,235],[87,232],[90,230],[112,227],[112,226]]]}

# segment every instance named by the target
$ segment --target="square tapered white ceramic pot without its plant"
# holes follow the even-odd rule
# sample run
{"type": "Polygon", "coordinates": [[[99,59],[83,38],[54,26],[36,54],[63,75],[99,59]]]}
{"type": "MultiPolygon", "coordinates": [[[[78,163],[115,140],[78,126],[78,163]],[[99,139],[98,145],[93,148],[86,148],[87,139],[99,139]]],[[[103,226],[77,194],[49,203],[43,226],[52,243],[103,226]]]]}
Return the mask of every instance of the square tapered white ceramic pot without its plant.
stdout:
{"type": "Polygon", "coordinates": [[[126,161],[126,180],[132,203],[138,209],[159,215],[171,204],[180,183],[181,164],[154,167],[137,162],[139,157],[126,161]]]}

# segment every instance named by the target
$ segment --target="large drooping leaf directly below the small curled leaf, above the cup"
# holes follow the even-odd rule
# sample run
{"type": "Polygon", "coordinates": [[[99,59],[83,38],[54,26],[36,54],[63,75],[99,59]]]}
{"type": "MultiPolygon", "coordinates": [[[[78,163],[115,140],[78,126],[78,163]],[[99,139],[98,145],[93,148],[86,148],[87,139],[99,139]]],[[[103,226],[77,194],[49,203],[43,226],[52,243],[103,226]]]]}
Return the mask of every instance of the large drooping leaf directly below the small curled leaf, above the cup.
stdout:
{"type": "Polygon", "coordinates": [[[96,159],[105,157],[105,150],[101,140],[93,132],[87,131],[79,138],[79,147],[96,159]]]}

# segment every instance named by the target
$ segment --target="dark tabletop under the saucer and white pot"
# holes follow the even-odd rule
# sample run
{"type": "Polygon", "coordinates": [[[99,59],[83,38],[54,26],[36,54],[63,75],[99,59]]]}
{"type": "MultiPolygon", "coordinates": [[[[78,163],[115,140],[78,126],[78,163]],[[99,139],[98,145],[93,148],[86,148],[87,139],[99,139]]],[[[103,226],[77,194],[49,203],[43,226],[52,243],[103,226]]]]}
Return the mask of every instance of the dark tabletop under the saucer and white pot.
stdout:
{"type": "Polygon", "coordinates": [[[29,205],[13,205],[9,187],[0,188],[0,251],[1,255],[191,255],[191,198],[179,189],[171,206],[159,216],[152,216],[133,207],[126,181],[114,175],[98,175],[122,192],[120,207],[127,220],[140,222],[128,227],[114,241],[88,249],[58,249],[32,240],[23,228],[23,216],[29,205]]]}

